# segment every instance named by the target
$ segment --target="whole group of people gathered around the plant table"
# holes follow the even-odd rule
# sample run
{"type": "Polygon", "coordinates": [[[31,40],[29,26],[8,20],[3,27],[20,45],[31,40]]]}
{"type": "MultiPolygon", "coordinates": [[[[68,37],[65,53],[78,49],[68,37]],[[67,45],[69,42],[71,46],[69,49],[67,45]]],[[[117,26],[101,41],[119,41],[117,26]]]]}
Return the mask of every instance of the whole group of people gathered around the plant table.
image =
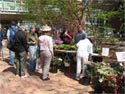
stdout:
{"type": "MultiPolygon", "coordinates": [[[[15,41],[15,51],[9,50],[9,64],[16,65],[16,76],[25,78],[28,76],[27,69],[34,72],[38,69],[39,63],[42,63],[42,80],[49,80],[49,69],[51,60],[54,57],[52,28],[47,24],[41,28],[31,26],[29,32],[26,33],[24,26],[16,26],[16,22],[12,21],[10,28],[7,30],[7,40],[15,41]],[[39,31],[38,31],[39,30],[39,31]],[[39,57],[37,54],[39,53],[39,57]],[[27,68],[27,56],[29,55],[29,63],[27,68]],[[37,60],[39,58],[39,61],[37,60]]],[[[0,35],[2,38],[2,34],[0,35]]],[[[82,25],[78,25],[78,31],[73,34],[72,31],[64,29],[60,34],[60,39],[64,44],[74,44],[77,46],[76,53],[76,80],[80,80],[81,71],[83,77],[86,76],[86,62],[88,62],[89,54],[93,52],[93,44],[87,38],[86,32],[82,25]]],[[[1,40],[2,41],[2,40],[1,40]]]]}

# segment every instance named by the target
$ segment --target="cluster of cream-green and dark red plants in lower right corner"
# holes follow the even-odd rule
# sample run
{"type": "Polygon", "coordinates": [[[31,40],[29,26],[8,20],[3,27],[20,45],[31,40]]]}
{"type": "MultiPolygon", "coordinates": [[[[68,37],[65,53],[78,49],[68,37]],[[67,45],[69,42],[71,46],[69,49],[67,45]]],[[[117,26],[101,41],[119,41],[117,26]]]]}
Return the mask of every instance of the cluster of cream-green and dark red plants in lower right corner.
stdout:
{"type": "Polygon", "coordinates": [[[94,63],[88,65],[87,74],[92,79],[92,86],[97,93],[118,94],[124,87],[123,69],[120,64],[112,66],[105,62],[94,63]]]}

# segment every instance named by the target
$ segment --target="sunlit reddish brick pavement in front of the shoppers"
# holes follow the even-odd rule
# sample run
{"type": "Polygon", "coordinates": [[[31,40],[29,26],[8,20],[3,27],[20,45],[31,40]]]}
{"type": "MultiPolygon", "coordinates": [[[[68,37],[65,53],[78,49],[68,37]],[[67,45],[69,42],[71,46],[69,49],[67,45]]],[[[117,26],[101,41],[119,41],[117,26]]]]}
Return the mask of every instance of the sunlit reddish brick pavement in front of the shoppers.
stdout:
{"type": "MultiPolygon", "coordinates": [[[[0,94],[92,94],[91,86],[84,86],[64,72],[50,73],[49,81],[42,81],[42,71],[27,78],[15,76],[15,67],[8,64],[8,49],[4,42],[4,61],[0,60],[0,94]]],[[[1,58],[1,57],[0,57],[1,58]]],[[[75,74],[72,74],[75,75],[75,74]]]]}

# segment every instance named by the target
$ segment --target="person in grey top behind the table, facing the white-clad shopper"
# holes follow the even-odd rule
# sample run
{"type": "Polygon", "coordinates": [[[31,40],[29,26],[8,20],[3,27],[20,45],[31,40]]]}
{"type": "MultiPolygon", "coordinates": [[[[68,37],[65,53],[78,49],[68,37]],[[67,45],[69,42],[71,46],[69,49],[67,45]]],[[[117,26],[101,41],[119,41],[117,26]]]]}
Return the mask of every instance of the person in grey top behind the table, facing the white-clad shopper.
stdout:
{"type": "Polygon", "coordinates": [[[74,42],[75,42],[75,44],[78,43],[80,40],[86,38],[86,37],[87,37],[87,34],[86,34],[86,32],[83,30],[82,25],[79,25],[79,26],[78,26],[78,32],[75,34],[75,37],[74,37],[74,42]]]}

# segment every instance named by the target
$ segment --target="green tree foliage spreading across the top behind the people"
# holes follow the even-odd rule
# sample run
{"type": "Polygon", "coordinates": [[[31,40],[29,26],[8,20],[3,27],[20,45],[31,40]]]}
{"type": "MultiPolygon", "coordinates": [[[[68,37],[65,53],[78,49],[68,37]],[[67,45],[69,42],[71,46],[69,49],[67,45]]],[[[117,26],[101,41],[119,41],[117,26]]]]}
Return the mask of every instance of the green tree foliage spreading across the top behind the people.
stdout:
{"type": "MultiPolygon", "coordinates": [[[[92,31],[90,34],[94,36],[94,43],[96,43],[98,38],[96,35],[102,35],[101,37],[105,36],[104,34],[98,33],[105,33],[105,31],[108,33],[115,30],[112,27],[112,23],[110,23],[112,19],[116,18],[124,23],[125,18],[124,0],[117,1],[116,6],[111,2],[89,3],[85,6],[85,2],[78,2],[77,0],[25,0],[25,3],[30,12],[25,14],[25,18],[40,23],[64,23],[66,25],[71,25],[72,23],[76,26],[81,22],[85,14],[91,19],[96,17],[101,23],[96,24],[91,21],[91,24],[87,26],[92,31]],[[113,8],[104,11],[100,9],[102,6],[113,6],[113,8]],[[100,11],[95,11],[95,9],[99,9],[100,11]],[[94,15],[91,15],[92,13],[94,15]]],[[[72,28],[74,29],[75,27],[73,26],[72,28]]]]}

